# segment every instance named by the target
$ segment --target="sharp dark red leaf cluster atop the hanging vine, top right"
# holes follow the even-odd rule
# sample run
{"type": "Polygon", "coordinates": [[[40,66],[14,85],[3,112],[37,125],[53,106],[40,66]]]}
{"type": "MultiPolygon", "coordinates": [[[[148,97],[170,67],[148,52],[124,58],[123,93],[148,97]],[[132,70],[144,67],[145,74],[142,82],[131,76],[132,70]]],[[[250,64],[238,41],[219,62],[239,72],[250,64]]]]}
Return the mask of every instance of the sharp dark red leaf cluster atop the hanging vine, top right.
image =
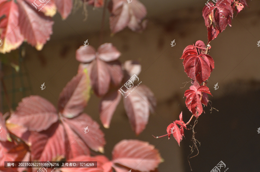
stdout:
{"type": "Polygon", "coordinates": [[[239,13],[244,6],[248,7],[246,0],[219,0],[216,4],[209,2],[203,8],[202,14],[208,30],[207,44],[225,30],[227,25],[231,26],[234,11],[239,13]]]}

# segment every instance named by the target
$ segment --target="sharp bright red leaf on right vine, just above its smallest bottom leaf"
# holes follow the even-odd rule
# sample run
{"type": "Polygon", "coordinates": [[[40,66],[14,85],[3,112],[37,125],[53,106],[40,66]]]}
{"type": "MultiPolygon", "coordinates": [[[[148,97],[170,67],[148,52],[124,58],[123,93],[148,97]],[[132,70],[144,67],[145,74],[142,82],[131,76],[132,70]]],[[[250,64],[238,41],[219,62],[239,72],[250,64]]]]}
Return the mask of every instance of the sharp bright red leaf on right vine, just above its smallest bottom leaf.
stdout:
{"type": "Polygon", "coordinates": [[[198,118],[199,115],[203,112],[202,103],[207,105],[207,94],[211,95],[209,88],[206,85],[200,86],[196,81],[194,81],[194,84],[190,86],[190,89],[186,90],[184,93],[184,96],[186,97],[185,104],[196,118],[198,118]],[[203,98],[200,101],[201,96],[203,96],[203,98]]]}

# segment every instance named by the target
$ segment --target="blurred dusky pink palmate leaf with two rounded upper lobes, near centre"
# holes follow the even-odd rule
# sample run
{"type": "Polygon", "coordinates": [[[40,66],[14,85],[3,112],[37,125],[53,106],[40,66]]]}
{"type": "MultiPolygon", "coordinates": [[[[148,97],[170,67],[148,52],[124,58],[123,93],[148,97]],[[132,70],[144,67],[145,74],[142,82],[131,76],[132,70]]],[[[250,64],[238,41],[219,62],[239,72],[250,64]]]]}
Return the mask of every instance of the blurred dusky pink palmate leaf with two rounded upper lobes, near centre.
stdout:
{"type": "Polygon", "coordinates": [[[121,63],[117,60],[119,56],[120,52],[111,43],[102,44],[97,52],[90,45],[80,46],[77,50],[76,59],[81,62],[78,71],[85,67],[88,69],[90,83],[97,96],[104,96],[110,83],[114,86],[121,83],[123,72],[121,63]]]}

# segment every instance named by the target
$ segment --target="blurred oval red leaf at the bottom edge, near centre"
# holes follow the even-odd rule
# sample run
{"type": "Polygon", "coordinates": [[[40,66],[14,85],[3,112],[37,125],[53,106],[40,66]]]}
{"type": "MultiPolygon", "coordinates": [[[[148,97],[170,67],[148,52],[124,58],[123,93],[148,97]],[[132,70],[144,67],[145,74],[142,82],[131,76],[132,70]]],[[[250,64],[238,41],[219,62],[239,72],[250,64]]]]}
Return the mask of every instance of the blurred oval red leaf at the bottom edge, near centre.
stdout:
{"type": "Polygon", "coordinates": [[[112,162],[143,172],[156,169],[161,162],[161,156],[153,145],[138,140],[120,141],[115,145],[112,155],[112,162]]]}

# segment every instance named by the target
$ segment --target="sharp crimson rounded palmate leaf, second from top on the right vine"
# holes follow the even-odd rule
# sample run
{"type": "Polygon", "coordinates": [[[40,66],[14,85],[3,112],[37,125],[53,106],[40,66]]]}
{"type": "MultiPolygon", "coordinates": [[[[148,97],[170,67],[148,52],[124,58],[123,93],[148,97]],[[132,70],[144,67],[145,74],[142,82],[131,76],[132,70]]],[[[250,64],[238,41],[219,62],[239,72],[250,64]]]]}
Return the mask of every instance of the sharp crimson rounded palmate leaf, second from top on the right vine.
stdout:
{"type": "Polygon", "coordinates": [[[198,55],[194,45],[184,49],[181,59],[184,59],[183,66],[186,74],[199,83],[206,81],[214,69],[212,57],[206,54],[198,55]]]}

